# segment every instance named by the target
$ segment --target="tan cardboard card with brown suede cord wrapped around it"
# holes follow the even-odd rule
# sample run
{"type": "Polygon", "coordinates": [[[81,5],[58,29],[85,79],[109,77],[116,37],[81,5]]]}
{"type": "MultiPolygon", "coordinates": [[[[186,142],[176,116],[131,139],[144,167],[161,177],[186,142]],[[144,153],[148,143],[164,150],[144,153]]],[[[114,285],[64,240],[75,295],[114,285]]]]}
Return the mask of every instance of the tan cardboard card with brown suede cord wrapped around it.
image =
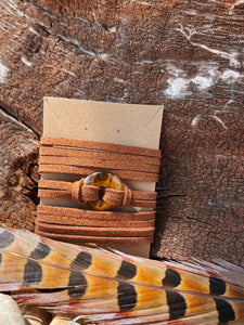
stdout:
{"type": "MultiPolygon", "coordinates": [[[[63,136],[157,150],[160,139],[163,106],[104,103],[60,98],[44,98],[43,136],[63,136]]],[[[43,179],[60,179],[44,174],[43,179]]],[[[77,176],[62,176],[75,181],[77,176]]],[[[131,190],[155,191],[155,183],[123,180],[131,190]]],[[[79,207],[70,199],[41,198],[42,204],[79,207]]],[[[84,243],[80,243],[84,244],[84,243]]],[[[100,245],[101,246],[101,245],[100,245]]],[[[102,245],[104,247],[104,245],[102,245]]],[[[150,245],[107,245],[134,256],[149,257],[150,245]]]]}

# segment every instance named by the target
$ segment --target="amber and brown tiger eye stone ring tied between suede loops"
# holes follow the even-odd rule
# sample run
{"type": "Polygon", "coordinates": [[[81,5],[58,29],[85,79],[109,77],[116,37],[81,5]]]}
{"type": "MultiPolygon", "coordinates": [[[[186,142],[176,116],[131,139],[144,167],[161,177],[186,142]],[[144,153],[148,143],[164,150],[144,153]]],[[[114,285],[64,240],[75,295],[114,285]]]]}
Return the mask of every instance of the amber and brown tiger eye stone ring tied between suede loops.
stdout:
{"type": "Polygon", "coordinates": [[[114,205],[107,204],[103,200],[104,188],[115,188],[115,190],[123,190],[123,182],[121,180],[111,173],[105,171],[98,171],[85,179],[85,185],[95,185],[100,186],[100,198],[98,200],[87,200],[85,202],[86,206],[92,210],[105,211],[112,210],[115,208],[114,205]]]}

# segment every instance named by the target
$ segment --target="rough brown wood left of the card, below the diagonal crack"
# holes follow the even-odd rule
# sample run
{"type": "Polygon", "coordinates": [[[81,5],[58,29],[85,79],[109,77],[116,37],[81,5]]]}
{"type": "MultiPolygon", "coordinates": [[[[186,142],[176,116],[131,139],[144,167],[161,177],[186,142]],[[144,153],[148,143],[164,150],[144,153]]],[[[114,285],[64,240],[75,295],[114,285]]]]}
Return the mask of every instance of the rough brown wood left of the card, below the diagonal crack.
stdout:
{"type": "Polygon", "coordinates": [[[37,204],[38,139],[0,109],[0,220],[34,230],[37,204]]]}

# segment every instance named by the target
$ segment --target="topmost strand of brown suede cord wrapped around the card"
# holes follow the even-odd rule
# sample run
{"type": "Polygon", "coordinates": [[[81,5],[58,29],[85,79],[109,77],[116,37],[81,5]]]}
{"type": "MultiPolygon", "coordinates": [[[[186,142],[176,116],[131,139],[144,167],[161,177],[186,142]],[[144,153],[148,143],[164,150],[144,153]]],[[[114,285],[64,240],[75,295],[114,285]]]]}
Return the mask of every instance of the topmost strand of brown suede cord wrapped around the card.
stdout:
{"type": "Polygon", "coordinates": [[[54,138],[54,136],[41,136],[41,145],[55,145],[55,146],[69,146],[69,147],[84,147],[97,151],[107,151],[115,153],[126,153],[139,156],[151,156],[160,158],[159,150],[152,150],[140,146],[130,146],[115,143],[97,142],[88,140],[66,139],[66,138],[54,138]]]}

